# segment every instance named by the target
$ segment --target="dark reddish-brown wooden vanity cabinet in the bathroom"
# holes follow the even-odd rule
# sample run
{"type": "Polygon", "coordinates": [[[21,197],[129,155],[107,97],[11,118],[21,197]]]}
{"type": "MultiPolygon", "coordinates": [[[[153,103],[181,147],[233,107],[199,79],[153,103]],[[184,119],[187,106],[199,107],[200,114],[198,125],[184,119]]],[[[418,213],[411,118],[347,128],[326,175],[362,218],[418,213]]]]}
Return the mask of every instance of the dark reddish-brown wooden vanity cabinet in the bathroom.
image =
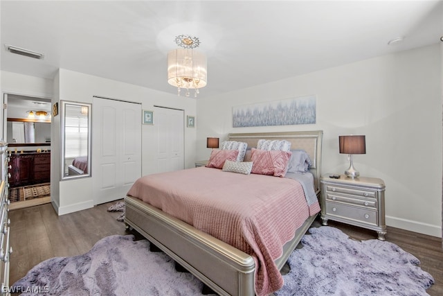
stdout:
{"type": "Polygon", "coordinates": [[[11,187],[51,182],[51,153],[12,153],[9,164],[11,187]]]}

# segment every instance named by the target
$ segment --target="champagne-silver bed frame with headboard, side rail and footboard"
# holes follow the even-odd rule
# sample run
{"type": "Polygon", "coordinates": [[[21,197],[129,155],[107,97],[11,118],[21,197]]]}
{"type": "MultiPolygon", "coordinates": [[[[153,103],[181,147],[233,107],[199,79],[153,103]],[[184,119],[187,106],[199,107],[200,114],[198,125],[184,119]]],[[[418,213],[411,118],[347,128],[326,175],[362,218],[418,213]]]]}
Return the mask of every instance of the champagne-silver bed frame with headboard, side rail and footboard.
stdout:
{"type": "MultiPolygon", "coordinates": [[[[255,147],[259,139],[285,139],[291,149],[305,150],[312,162],[311,173],[317,197],[320,195],[321,130],[307,132],[266,132],[229,134],[230,141],[244,141],[255,147]]],[[[219,295],[253,296],[255,263],[251,256],[195,227],[150,206],[137,198],[125,197],[125,224],[136,229],[174,261],[192,272],[219,295]]],[[[316,216],[309,217],[294,238],[284,245],[275,261],[279,269],[300,242],[316,216]]]]}

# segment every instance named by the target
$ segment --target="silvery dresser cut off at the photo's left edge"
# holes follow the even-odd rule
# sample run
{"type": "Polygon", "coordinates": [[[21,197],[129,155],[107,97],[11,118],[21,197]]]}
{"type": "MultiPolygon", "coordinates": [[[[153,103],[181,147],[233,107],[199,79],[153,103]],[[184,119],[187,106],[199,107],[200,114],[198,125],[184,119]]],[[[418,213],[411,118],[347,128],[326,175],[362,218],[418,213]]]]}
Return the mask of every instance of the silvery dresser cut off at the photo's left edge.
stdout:
{"type": "Polygon", "coordinates": [[[9,295],[9,257],[12,247],[9,244],[10,220],[8,218],[8,144],[0,141],[1,184],[0,184],[0,281],[1,295],[9,295]]]}

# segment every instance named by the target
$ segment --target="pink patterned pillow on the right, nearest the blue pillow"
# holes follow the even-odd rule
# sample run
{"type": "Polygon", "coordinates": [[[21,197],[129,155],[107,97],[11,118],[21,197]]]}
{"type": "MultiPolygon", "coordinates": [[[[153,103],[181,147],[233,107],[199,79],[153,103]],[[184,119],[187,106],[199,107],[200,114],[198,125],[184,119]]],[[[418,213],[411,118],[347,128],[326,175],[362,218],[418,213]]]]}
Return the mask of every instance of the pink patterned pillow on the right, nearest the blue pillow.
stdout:
{"type": "Polygon", "coordinates": [[[289,151],[252,148],[251,154],[253,164],[251,173],[284,177],[292,153],[289,151]]]}

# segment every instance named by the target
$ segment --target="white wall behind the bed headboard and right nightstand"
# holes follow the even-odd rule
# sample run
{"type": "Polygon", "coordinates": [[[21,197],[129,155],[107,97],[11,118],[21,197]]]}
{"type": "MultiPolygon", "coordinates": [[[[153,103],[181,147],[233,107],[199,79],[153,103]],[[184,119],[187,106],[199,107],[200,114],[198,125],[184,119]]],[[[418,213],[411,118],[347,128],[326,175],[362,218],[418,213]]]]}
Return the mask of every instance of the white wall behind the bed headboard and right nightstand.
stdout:
{"type": "Polygon", "coordinates": [[[197,101],[198,159],[206,137],[229,132],[323,130],[323,174],[343,173],[338,135],[365,134],[354,155],[361,175],[386,183],[386,223],[441,236],[442,73],[440,45],[363,60],[197,101]],[[232,107],[314,94],[316,124],[233,128],[232,107]]]}

